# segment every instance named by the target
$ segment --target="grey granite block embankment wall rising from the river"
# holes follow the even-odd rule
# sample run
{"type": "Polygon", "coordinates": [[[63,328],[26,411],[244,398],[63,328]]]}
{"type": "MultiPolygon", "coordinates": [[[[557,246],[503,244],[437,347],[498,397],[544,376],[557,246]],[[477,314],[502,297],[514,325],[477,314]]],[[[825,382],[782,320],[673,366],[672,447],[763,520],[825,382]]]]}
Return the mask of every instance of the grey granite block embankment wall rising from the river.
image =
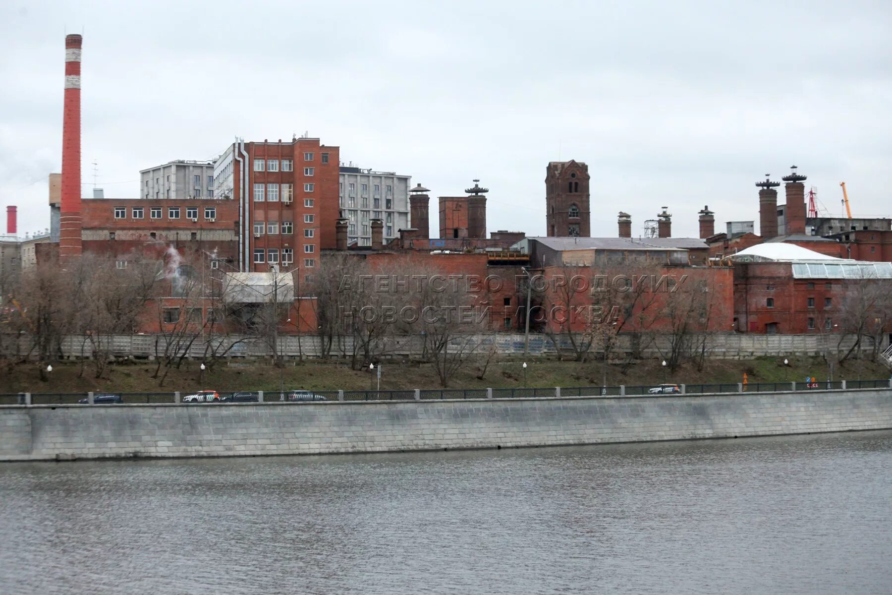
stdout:
{"type": "Polygon", "coordinates": [[[892,428],[892,390],[0,407],[0,460],[318,454],[892,428]]]}

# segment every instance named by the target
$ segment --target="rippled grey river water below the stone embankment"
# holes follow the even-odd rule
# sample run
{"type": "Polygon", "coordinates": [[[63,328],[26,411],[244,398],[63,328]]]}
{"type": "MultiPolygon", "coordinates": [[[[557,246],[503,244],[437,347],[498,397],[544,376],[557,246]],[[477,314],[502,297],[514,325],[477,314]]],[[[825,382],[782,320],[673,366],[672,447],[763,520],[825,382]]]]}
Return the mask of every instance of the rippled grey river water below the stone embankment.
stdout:
{"type": "Polygon", "coordinates": [[[0,593],[889,593],[892,432],[0,464],[0,593]]]}

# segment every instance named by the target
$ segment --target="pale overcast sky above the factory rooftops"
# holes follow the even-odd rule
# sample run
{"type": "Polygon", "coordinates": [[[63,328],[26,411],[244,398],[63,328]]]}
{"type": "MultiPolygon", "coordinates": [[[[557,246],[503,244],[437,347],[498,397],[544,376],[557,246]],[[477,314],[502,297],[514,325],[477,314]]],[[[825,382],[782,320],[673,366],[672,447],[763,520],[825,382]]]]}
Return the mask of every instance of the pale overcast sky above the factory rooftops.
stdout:
{"type": "Polygon", "coordinates": [[[433,196],[481,178],[488,231],[545,235],[545,167],[568,159],[589,165],[592,236],[621,209],[636,236],[664,205],[673,236],[705,204],[717,231],[757,220],[754,183],[794,163],[832,214],[845,181],[856,215],[892,215],[888,0],[4,0],[0,216],[19,205],[20,233],[49,226],[66,32],[84,34],[84,195],[93,161],[131,198],[140,169],[308,131],[433,196]]]}

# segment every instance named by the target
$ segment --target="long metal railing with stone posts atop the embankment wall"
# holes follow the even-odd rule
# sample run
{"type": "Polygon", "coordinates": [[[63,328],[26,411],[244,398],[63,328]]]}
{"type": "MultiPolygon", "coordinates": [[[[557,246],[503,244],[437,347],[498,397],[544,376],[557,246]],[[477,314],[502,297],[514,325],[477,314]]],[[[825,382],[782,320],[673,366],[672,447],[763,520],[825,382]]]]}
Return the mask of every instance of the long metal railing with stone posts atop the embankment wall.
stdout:
{"type": "MultiPolygon", "coordinates": [[[[444,401],[457,399],[529,399],[536,397],[664,397],[677,394],[747,394],[808,391],[840,391],[853,389],[892,388],[892,378],[872,380],[835,380],[816,382],[767,382],[749,384],[640,384],[618,386],[561,386],[528,388],[447,388],[368,391],[306,391],[297,398],[279,391],[241,392],[246,401],[299,404],[320,401],[444,401]],[[309,395],[308,395],[309,393],[309,395]],[[311,396],[310,396],[311,395],[311,396]]],[[[221,399],[236,392],[218,393],[221,399]]],[[[120,397],[126,404],[180,403],[207,405],[208,401],[186,402],[192,393],[0,393],[0,405],[72,405],[95,402],[101,397],[120,397]]],[[[218,402],[218,401],[215,401],[218,402]]],[[[223,401],[226,402],[226,401],[223,401]]]]}

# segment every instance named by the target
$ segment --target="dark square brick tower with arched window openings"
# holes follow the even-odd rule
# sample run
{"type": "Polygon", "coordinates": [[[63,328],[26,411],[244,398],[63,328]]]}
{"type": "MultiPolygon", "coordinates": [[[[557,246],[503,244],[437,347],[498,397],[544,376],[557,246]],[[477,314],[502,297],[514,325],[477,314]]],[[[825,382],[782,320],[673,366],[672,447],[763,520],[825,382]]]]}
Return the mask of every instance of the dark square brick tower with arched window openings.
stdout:
{"type": "Polygon", "coordinates": [[[591,236],[589,166],[573,160],[549,162],[545,206],[549,237],[591,236]]]}

